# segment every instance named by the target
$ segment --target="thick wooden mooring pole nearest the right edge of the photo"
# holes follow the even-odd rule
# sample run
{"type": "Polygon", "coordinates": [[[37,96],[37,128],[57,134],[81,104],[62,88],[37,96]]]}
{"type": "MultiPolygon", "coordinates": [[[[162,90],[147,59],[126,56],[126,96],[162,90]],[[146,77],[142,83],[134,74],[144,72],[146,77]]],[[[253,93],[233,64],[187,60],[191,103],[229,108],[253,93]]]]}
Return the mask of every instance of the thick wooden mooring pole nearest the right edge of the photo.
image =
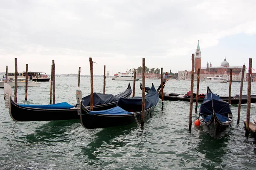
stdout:
{"type": "Polygon", "coordinates": [[[251,85],[252,85],[252,60],[253,60],[252,58],[249,58],[245,137],[249,136],[249,131],[250,131],[250,104],[251,104],[251,101],[250,101],[251,96],[250,95],[251,95],[251,85]]]}

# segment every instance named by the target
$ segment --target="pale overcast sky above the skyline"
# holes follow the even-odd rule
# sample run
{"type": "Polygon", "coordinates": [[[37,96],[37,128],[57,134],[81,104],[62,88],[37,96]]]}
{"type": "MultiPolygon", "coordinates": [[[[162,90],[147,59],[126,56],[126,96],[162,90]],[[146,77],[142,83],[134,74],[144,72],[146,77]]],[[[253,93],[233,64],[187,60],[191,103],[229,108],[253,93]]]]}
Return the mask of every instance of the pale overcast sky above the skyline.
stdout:
{"type": "MultiPolygon", "coordinates": [[[[138,68],[191,71],[198,40],[201,67],[256,69],[255,0],[0,0],[0,72],[110,75],[138,68]]],[[[255,71],[253,71],[255,72],[255,71]]]]}

